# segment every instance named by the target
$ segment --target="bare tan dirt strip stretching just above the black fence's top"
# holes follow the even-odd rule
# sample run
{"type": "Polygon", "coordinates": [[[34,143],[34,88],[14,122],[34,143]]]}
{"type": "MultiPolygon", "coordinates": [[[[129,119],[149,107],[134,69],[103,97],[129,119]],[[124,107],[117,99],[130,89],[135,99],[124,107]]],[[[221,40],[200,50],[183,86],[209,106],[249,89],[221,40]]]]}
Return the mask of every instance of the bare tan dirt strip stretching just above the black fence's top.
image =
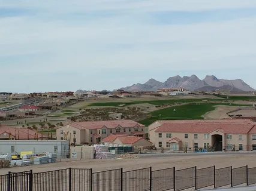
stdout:
{"type": "Polygon", "coordinates": [[[0,175],[11,172],[20,172],[33,170],[33,172],[44,172],[52,170],[61,170],[64,168],[92,168],[93,171],[105,171],[118,168],[124,168],[124,171],[136,170],[140,168],[152,167],[152,170],[176,167],[176,170],[197,166],[197,168],[206,168],[216,165],[216,168],[242,167],[248,165],[249,168],[256,167],[256,153],[234,155],[194,155],[194,156],[150,156],[149,158],[138,159],[109,159],[109,160],[80,160],[57,162],[44,165],[33,165],[27,167],[2,168],[0,175]]]}

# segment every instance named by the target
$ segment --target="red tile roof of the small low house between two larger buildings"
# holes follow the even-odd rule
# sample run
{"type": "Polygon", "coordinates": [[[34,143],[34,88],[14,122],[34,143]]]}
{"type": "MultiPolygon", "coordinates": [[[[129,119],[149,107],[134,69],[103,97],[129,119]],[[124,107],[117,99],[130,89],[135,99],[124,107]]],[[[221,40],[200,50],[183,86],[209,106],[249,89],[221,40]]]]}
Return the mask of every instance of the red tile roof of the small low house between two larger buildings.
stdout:
{"type": "MultiPolygon", "coordinates": [[[[102,141],[103,142],[113,142],[116,140],[116,138],[118,138],[122,144],[134,144],[136,143],[137,141],[141,140],[141,139],[144,139],[146,140],[145,138],[143,137],[135,137],[135,136],[127,136],[127,135],[109,135],[107,136],[106,138],[104,138],[102,141]]],[[[147,140],[148,141],[148,140],[147,140]]],[[[150,144],[152,144],[150,141],[148,141],[150,144]]]]}

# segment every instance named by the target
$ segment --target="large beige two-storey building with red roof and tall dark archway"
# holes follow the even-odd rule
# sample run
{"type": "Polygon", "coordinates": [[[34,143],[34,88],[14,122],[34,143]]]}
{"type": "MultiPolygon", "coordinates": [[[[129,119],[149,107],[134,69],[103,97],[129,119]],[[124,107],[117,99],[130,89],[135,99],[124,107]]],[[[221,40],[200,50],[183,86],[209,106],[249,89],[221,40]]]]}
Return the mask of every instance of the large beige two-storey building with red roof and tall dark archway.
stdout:
{"type": "Polygon", "coordinates": [[[256,150],[256,123],[249,119],[156,121],[149,125],[156,147],[171,150],[256,150]]]}

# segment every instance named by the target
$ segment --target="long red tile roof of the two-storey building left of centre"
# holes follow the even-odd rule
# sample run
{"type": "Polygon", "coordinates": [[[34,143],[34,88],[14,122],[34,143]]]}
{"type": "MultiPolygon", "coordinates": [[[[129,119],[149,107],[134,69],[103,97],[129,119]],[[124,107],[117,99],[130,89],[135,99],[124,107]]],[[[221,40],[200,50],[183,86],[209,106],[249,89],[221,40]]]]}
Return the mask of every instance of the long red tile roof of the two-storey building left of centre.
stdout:
{"type": "Polygon", "coordinates": [[[78,128],[80,130],[88,129],[95,130],[106,127],[107,129],[116,128],[121,126],[122,128],[127,127],[135,127],[138,125],[139,127],[145,127],[143,124],[139,124],[132,120],[111,120],[111,121],[83,121],[83,122],[71,122],[70,125],[74,128],[78,128]]]}

